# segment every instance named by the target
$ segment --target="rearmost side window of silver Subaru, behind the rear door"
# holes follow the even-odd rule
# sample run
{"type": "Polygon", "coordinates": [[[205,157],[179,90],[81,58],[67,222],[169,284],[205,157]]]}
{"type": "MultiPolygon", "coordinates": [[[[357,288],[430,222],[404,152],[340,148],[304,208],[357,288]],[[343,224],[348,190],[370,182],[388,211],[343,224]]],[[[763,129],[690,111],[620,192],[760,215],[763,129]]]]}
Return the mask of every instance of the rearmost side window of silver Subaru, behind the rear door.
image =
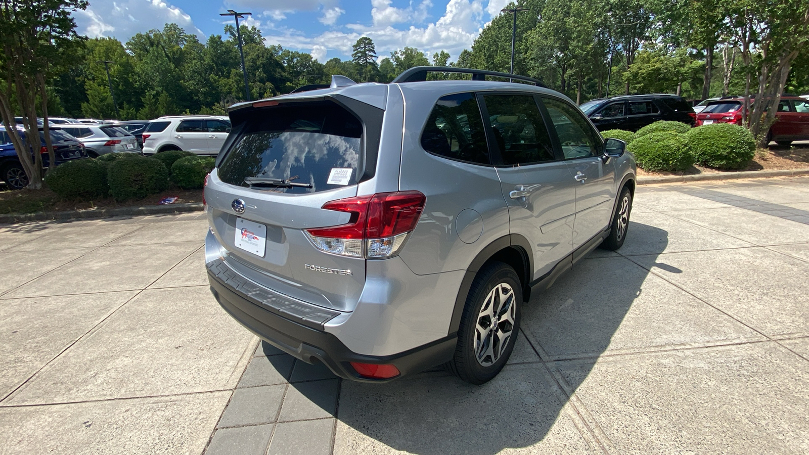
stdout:
{"type": "Polygon", "coordinates": [[[481,109],[474,93],[438,99],[421,132],[421,148],[449,159],[490,164],[481,109]]]}

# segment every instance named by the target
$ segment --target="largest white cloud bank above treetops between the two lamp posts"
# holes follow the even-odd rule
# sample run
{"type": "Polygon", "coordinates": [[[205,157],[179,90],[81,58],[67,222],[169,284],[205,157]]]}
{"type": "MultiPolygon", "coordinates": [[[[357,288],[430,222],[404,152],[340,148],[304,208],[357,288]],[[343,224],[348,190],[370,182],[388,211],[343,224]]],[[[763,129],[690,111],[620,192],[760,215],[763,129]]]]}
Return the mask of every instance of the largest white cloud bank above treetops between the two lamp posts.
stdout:
{"type": "MultiPolygon", "coordinates": [[[[389,6],[388,0],[374,0],[376,5],[389,6]]],[[[404,11],[398,8],[399,11],[404,11]]],[[[415,10],[417,11],[417,10],[415,10]]],[[[394,17],[392,13],[385,17],[394,17]]],[[[398,14],[398,13],[396,13],[398,14]]],[[[409,14],[412,14],[409,13],[409,14]]],[[[268,44],[280,44],[290,49],[315,49],[319,55],[324,49],[337,50],[343,55],[350,55],[352,46],[360,36],[368,36],[374,40],[379,57],[388,57],[388,53],[404,46],[421,49],[432,55],[446,50],[452,57],[458,57],[460,51],[472,46],[472,41],[481,32],[483,25],[483,0],[449,0],[444,15],[426,27],[410,26],[406,30],[392,27],[391,24],[367,26],[359,23],[348,24],[349,32],[332,30],[319,36],[306,36],[303,32],[289,28],[279,28],[277,33],[265,36],[268,44]]],[[[381,17],[381,16],[380,16],[381,17]]]]}

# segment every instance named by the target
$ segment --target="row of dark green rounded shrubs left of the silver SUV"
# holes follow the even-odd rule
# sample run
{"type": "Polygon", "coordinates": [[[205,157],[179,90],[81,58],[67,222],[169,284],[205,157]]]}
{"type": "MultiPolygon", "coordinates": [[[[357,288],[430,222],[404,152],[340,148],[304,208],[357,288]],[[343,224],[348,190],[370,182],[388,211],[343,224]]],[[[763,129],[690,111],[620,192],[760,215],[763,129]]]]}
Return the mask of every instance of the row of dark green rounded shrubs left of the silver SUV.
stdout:
{"type": "Polygon", "coordinates": [[[164,191],[169,181],[182,189],[202,188],[214,163],[214,158],[186,151],[166,151],[155,157],[108,153],[97,159],[61,164],[45,176],[45,184],[64,199],[112,196],[116,201],[125,201],[164,191]]]}

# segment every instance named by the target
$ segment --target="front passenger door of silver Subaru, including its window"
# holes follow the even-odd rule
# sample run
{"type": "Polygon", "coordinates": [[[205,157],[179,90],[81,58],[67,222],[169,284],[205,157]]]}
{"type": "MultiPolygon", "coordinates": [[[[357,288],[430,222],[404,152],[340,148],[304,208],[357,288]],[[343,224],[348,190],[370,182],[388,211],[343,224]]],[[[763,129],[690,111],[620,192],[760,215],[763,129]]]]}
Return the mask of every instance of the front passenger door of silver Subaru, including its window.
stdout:
{"type": "Polygon", "coordinates": [[[612,219],[612,202],[616,198],[615,168],[604,164],[604,144],[590,122],[570,104],[543,97],[555,133],[561,143],[565,163],[576,188],[576,219],[573,248],[608,227],[612,219]]]}

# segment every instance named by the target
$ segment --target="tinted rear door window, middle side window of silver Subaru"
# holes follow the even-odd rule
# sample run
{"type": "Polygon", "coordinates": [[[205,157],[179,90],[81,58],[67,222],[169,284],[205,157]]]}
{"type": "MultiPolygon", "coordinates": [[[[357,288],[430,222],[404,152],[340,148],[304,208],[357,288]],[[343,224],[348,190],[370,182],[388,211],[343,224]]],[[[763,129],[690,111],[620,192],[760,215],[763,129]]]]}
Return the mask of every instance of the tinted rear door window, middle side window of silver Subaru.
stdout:
{"type": "Polygon", "coordinates": [[[483,100],[502,164],[555,159],[553,142],[532,95],[484,95],[483,100]]]}

